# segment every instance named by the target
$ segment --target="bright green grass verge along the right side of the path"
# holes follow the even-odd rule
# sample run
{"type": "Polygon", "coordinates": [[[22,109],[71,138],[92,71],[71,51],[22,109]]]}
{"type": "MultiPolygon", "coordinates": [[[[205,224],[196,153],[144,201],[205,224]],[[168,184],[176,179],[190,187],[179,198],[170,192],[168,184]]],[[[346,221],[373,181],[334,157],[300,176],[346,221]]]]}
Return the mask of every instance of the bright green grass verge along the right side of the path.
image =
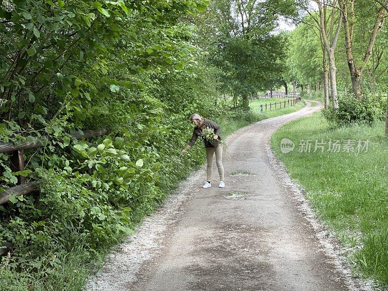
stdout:
{"type": "Polygon", "coordinates": [[[373,126],[330,128],[322,113],[295,120],[275,132],[271,146],[291,178],[306,191],[317,216],[349,249],[356,273],[388,285],[388,138],[384,122],[373,126]],[[283,138],[295,148],[282,153],[283,138]],[[340,140],[340,152],[327,152],[328,142],[340,140]],[[311,140],[310,152],[299,143],[311,140]],[[322,141],[324,152],[315,149],[322,141]],[[343,152],[344,141],[369,140],[368,150],[343,152]]]}

